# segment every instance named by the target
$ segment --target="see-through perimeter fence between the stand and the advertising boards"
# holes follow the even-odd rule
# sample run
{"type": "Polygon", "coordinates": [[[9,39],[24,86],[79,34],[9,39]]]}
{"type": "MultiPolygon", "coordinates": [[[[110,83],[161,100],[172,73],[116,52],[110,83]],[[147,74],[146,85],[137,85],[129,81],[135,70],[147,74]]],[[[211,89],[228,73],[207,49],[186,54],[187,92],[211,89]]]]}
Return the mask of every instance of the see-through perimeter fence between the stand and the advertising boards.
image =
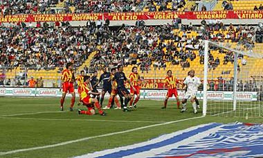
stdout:
{"type": "MultiPolygon", "coordinates": [[[[125,75],[129,77],[131,73],[131,67],[125,67],[125,75]]],[[[110,68],[109,68],[110,69],[110,68]]],[[[144,81],[141,83],[142,89],[166,89],[164,87],[163,80],[167,76],[167,70],[172,70],[172,75],[176,76],[179,80],[178,89],[182,89],[182,83],[188,71],[190,69],[195,70],[195,76],[203,80],[203,69],[197,67],[185,67],[179,69],[174,66],[167,67],[138,67],[138,73],[144,81]]],[[[261,69],[258,71],[260,72],[261,69]]],[[[0,87],[30,87],[29,81],[32,78],[35,80],[35,87],[60,87],[61,86],[61,71],[62,69],[53,70],[38,70],[34,67],[24,68],[11,68],[5,67],[0,69],[0,87]]],[[[80,69],[74,68],[75,77],[80,74],[80,69]]],[[[93,76],[93,72],[98,71],[98,78],[102,74],[101,67],[93,69],[84,69],[86,75],[93,76]]],[[[239,82],[237,85],[237,91],[259,91],[263,86],[263,76],[259,73],[252,76],[251,73],[245,69],[239,73],[239,82]]],[[[255,71],[255,70],[254,70],[255,71]]],[[[256,71],[255,71],[256,72],[256,71]]],[[[126,85],[129,88],[129,85],[126,85]]],[[[77,87],[77,85],[75,85],[77,87]]],[[[102,84],[100,84],[102,87],[102,84]]],[[[199,90],[203,89],[203,85],[199,87],[199,90]]],[[[208,72],[208,91],[233,91],[233,73],[226,72],[224,68],[210,69],[208,72]]]]}

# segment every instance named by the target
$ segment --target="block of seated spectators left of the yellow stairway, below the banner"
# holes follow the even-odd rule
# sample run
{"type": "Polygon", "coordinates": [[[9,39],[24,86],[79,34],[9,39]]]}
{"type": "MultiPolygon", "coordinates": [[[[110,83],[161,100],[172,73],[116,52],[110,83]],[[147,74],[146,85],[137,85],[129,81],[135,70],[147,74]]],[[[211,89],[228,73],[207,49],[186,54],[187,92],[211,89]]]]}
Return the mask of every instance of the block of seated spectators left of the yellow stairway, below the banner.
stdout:
{"type": "Polygon", "coordinates": [[[79,67],[94,50],[95,31],[94,26],[2,26],[0,67],[55,69],[64,67],[66,62],[79,67]]]}

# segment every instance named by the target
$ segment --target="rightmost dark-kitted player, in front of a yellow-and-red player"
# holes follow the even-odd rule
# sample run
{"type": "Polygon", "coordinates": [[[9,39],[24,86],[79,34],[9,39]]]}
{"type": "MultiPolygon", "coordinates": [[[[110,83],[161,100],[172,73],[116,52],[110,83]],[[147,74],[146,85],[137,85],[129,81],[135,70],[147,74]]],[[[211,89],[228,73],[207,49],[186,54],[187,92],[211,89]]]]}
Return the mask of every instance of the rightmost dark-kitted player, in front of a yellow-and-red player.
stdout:
{"type": "MultiPolygon", "coordinates": [[[[127,81],[130,84],[129,80],[127,80],[125,73],[123,73],[123,65],[118,65],[118,72],[114,74],[114,79],[117,82],[117,89],[118,89],[118,94],[120,96],[125,97],[125,105],[123,107],[123,112],[128,112],[129,110],[127,109],[127,104],[129,103],[129,100],[131,100],[131,94],[129,94],[129,91],[125,88],[125,81],[127,81]]],[[[131,88],[136,91],[136,89],[131,85],[131,88]]]]}

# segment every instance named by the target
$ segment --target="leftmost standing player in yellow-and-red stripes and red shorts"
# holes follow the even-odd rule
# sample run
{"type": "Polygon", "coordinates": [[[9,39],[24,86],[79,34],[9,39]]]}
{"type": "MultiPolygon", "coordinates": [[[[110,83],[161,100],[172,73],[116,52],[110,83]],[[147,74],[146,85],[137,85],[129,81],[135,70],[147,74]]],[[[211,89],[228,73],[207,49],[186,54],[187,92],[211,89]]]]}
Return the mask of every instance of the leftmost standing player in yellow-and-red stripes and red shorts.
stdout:
{"type": "Polygon", "coordinates": [[[66,94],[69,93],[72,95],[71,98],[71,107],[70,111],[73,111],[73,106],[75,103],[75,91],[74,91],[74,82],[75,82],[75,77],[74,77],[74,72],[72,69],[72,62],[66,63],[66,69],[62,71],[62,97],[60,99],[60,110],[63,111],[63,105],[64,105],[64,100],[66,97],[66,94]]]}

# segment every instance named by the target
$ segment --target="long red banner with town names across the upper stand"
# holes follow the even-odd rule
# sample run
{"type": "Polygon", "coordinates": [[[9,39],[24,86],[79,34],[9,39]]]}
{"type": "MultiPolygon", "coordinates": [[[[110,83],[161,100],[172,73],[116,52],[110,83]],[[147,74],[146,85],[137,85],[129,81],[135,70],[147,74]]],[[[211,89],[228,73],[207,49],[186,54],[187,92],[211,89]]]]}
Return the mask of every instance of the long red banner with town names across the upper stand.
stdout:
{"type": "Polygon", "coordinates": [[[208,12],[111,12],[55,15],[6,15],[0,22],[37,21],[88,21],[109,19],[110,21],[149,20],[149,19],[263,19],[263,10],[222,10],[208,12]]]}

